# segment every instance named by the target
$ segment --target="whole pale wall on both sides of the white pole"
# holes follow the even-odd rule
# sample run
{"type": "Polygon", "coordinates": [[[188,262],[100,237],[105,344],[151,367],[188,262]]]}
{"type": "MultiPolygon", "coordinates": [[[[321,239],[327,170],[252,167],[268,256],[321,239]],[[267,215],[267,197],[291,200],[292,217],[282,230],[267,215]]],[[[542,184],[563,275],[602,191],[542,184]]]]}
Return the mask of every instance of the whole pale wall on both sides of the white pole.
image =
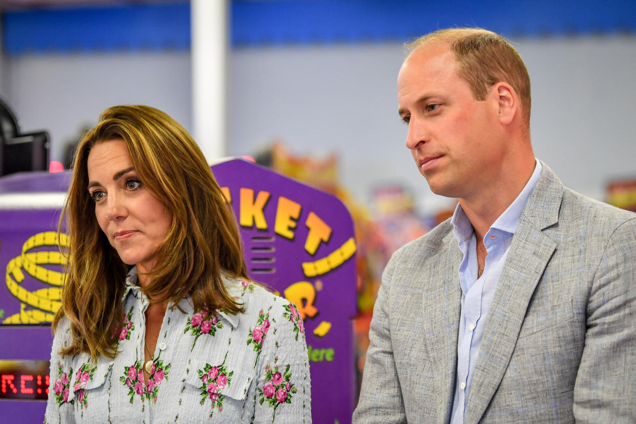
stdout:
{"type": "MultiPolygon", "coordinates": [[[[532,80],[535,153],[577,191],[602,199],[612,177],[636,175],[636,36],[521,39],[532,80]]],[[[271,140],[341,158],[343,184],[367,200],[374,184],[404,182],[425,211],[429,191],[404,147],[397,116],[400,44],[247,48],[230,55],[228,154],[271,140]]],[[[107,106],[144,103],[191,129],[189,53],[5,58],[3,96],[23,130],[46,128],[53,158],[107,106]],[[7,79],[10,80],[8,83],[7,79]]]]}

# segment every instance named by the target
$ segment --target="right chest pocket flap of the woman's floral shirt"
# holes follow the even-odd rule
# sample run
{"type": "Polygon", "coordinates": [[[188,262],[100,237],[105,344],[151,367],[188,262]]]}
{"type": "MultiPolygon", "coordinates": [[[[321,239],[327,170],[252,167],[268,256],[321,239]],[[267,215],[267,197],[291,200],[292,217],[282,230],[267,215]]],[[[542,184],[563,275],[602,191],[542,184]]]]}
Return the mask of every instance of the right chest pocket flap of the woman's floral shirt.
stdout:
{"type": "Polygon", "coordinates": [[[191,360],[187,373],[186,383],[197,388],[202,399],[209,397],[214,400],[223,395],[236,400],[245,400],[252,383],[251,374],[245,373],[238,364],[236,367],[226,364],[219,366],[200,360],[191,360]]]}

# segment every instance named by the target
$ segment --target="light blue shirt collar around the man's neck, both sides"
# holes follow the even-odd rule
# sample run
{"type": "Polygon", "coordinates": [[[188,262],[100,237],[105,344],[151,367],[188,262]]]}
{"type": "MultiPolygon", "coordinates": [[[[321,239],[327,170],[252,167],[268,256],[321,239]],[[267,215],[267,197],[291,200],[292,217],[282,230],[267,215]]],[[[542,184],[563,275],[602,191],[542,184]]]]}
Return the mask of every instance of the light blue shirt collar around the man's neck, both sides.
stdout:
{"type": "MultiPolygon", "coordinates": [[[[508,208],[499,215],[490,228],[500,229],[501,231],[506,231],[506,233],[510,234],[515,233],[523,208],[528,202],[528,198],[530,197],[530,193],[532,193],[534,186],[536,186],[537,181],[539,181],[541,169],[543,168],[541,166],[541,161],[536,160],[536,158],[535,161],[536,165],[534,167],[534,172],[530,175],[530,179],[523,187],[521,193],[519,193],[513,203],[511,203],[508,208]]],[[[453,224],[453,233],[458,242],[464,242],[473,236],[473,225],[466,216],[466,213],[464,213],[462,205],[459,203],[457,203],[457,207],[455,207],[455,212],[453,213],[450,223],[453,224]]]]}

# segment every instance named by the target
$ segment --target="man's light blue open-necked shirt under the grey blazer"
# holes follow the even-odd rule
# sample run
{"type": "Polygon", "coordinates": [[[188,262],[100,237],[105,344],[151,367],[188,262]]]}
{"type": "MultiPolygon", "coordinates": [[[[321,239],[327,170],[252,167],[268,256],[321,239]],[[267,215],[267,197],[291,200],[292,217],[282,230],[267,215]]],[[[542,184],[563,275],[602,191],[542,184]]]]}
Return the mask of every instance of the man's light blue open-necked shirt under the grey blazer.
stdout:
{"type": "Polygon", "coordinates": [[[473,381],[488,311],[490,311],[497,282],[501,277],[517,223],[540,174],[541,162],[537,160],[534,172],[521,193],[488,229],[483,238],[483,245],[488,255],[481,277],[478,278],[477,239],[474,235],[473,225],[460,205],[455,208],[455,213],[450,221],[453,224],[453,233],[459,242],[459,248],[464,254],[464,259],[459,266],[462,310],[459,317],[455,397],[453,398],[453,411],[450,420],[452,424],[464,422],[466,400],[473,381]]]}

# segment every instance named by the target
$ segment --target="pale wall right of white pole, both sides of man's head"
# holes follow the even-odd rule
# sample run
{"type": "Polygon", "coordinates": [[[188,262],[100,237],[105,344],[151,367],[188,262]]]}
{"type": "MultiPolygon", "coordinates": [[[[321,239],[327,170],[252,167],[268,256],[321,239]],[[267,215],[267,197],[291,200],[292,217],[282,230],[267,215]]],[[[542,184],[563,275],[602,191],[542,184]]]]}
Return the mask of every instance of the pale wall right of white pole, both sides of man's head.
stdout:
{"type": "MultiPolygon", "coordinates": [[[[522,39],[532,81],[535,154],[577,191],[602,200],[612,177],[636,175],[636,37],[522,39]]],[[[230,153],[285,140],[298,153],[337,151],[342,180],[360,199],[398,181],[420,207],[433,195],[404,146],[397,116],[399,44],[236,50],[230,153]]]]}

